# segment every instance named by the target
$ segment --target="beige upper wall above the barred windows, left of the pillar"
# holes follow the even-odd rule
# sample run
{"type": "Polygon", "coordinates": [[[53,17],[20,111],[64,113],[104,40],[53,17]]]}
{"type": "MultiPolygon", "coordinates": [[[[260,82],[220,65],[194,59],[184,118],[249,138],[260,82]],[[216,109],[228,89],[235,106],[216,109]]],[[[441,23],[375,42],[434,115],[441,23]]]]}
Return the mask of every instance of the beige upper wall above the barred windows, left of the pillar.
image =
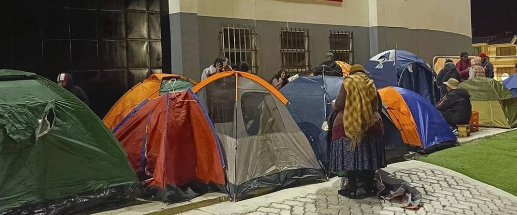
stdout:
{"type": "Polygon", "coordinates": [[[169,12],[234,19],[368,26],[368,1],[169,0],[169,12]]]}

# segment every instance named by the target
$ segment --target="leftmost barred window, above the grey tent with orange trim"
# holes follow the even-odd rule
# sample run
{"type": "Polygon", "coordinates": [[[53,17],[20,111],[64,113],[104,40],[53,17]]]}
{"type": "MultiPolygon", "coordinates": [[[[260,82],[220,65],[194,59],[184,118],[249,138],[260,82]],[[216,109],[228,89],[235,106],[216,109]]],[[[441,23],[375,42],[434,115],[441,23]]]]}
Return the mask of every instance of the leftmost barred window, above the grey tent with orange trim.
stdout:
{"type": "MultiPolygon", "coordinates": [[[[256,33],[251,26],[221,25],[221,55],[237,64],[244,61],[253,74],[258,73],[256,33]]],[[[246,71],[244,71],[246,72],[246,71]]]]}

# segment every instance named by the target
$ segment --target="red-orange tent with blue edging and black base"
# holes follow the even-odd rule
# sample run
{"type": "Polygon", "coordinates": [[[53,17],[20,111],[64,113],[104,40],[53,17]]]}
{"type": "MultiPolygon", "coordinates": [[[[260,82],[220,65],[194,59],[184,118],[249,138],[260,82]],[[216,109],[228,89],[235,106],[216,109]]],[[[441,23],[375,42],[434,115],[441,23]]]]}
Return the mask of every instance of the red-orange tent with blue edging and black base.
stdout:
{"type": "Polygon", "coordinates": [[[219,140],[191,90],[145,100],[113,131],[156,199],[179,202],[226,191],[219,140]]]}

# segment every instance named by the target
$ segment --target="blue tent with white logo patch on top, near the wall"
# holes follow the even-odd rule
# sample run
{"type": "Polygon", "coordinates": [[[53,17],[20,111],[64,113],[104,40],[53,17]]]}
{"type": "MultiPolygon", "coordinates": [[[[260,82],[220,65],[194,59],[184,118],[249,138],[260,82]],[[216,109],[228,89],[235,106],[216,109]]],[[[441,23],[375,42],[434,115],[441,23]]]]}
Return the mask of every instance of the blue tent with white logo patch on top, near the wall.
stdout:
{"type": "Polygon", "coordinates": [[[377,88],[401,87],[416,92],[435,104],[439,98],[435,93],[435,73],[417,55],[404,50],[389,50],[372,57],[364,64],[372,74],[377,88]]]}

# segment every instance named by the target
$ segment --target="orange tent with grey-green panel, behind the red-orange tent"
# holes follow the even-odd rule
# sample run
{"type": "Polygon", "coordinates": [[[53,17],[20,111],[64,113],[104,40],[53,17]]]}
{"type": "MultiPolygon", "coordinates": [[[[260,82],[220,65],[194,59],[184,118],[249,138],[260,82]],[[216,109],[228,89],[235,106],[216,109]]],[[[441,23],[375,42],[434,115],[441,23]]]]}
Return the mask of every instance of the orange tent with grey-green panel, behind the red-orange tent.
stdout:
{"type": "Polygon", "coordinates": [[[184,91],[196,84],[196,81],[181,75],[151,74],[120,97],[104,116],[102,122],[112,130],[131,110],[144,100],[156,98],[164,92],[184,91]]]}

